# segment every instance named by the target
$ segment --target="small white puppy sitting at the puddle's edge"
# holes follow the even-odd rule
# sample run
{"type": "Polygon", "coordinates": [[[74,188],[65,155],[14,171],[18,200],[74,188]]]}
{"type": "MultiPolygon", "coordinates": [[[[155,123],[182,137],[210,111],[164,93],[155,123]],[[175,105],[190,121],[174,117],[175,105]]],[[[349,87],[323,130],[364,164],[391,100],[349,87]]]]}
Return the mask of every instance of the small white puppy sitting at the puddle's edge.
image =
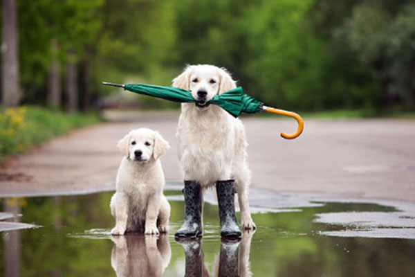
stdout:
{"type": "Polygon", "coordinates": [[[163,195],[165,177],[158,157],[169,143],[158,132],[141,128],[129,132],[117,146],[124,158],[118,169],[117,192],[111,198],[111,213],[116,218],[111,234],[167,232],[170,205],[163,195]]]}

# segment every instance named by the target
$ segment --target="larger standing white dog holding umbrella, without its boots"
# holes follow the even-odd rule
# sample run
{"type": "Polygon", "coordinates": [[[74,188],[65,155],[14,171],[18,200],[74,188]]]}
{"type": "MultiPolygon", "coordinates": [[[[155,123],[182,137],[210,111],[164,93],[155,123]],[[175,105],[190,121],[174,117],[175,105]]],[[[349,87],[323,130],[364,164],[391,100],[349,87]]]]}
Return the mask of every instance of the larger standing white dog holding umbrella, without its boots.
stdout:
{"type": "MultiPolygon", "coordinates": [[[[173,87],[207,92],[205,102],[215,95],[236,88],[225,69],[212,65],[187,66],[173,80],[173,87]]],[[[235,179],[241,208],[242,229],[255,229],[248,204],[251,173],[246,161],[246,135],[241,120],[216,105],[199,107],[183,103],[178,122],[178,158],[185,180],[199,181],[203,190],[216,181],[235,179]]]]}

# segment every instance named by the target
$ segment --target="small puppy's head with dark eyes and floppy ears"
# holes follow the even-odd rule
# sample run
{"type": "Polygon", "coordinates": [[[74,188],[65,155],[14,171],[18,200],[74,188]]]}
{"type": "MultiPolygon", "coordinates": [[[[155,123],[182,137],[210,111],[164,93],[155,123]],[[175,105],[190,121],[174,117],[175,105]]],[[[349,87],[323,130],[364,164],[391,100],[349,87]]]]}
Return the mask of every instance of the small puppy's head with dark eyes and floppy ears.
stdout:
{"type": "Polygon", "coordinates": [[[169,143],[151,129],[136,129],[118,142],[118,148],[131,161],[148,163],[169,149],[169,143]]]}

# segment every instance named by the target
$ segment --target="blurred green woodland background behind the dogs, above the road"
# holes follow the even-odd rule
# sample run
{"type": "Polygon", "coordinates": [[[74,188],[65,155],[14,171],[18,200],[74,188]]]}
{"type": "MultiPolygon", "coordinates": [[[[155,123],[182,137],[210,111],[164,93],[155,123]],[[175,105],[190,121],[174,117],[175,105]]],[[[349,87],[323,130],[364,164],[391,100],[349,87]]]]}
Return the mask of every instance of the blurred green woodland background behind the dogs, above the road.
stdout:
{"type": "Polygon", "coordinates": [[[207,63],[282,109],[415,107],[414,1],[3,0],[1,16],[3,106],[178,107],[100,82],[170,85],[207,63]]]}

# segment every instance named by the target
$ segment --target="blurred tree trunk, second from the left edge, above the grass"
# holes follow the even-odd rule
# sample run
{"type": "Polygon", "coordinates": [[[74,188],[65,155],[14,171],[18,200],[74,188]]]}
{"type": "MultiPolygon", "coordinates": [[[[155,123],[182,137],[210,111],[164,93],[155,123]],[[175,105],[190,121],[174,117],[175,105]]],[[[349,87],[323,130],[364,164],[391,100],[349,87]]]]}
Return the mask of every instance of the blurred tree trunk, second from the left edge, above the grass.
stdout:
{"type": "Polygon", "coordinates": [[[48,105],[52,109],[59,109],[62,102],[62,83],[57,52],[59,45],[56,38],[52,39],[53,60],[48,75],[48,105]]]}

